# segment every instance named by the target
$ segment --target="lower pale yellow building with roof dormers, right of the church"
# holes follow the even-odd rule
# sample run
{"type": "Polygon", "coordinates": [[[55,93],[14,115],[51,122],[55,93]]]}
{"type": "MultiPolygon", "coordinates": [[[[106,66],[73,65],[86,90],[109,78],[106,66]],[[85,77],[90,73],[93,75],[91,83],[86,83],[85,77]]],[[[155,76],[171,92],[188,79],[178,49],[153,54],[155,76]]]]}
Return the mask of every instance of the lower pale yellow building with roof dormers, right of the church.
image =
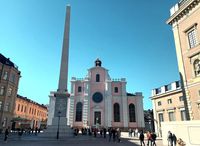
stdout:
{"type": "Polygon", "coordinates": [[[155,132],[162,136],[161,122],[185,121],[186,106],[180,81],[152,90],[155,132]]]}

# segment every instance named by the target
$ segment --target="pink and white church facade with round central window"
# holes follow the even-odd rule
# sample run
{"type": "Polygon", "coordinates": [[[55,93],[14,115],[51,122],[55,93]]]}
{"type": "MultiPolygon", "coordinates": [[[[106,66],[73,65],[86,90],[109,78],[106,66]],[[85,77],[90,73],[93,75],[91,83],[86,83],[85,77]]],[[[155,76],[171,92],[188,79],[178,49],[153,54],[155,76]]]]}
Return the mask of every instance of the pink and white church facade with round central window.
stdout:
{"type": "Polygon", "coordinates": [[[142,93],[127,93],[126,79],[111,79],[99,59],[85,78],[72,77],[69,103],[72,127],[144,127],[142,93]]]}

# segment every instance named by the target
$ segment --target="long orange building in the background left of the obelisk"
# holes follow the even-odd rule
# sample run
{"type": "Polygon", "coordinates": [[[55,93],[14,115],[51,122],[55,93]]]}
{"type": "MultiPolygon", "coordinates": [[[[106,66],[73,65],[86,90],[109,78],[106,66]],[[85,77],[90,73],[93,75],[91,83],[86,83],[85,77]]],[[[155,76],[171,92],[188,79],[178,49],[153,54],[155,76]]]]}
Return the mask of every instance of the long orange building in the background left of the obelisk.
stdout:
{"type": "Polygon", "coordinates": [[[34,129],[34,128],[45,128],[47,123],[47,107],[43,104],[34,102],[27,97],[17,95],[14,118],[13,118],[13,129],[34,129]]]}

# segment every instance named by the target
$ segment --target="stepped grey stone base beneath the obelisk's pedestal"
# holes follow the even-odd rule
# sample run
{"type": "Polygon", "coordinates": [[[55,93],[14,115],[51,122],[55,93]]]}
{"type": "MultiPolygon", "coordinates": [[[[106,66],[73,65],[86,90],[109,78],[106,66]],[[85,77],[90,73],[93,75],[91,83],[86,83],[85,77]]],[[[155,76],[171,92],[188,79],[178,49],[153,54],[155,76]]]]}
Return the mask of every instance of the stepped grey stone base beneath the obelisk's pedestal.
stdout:
{"type": "Polygon", "coordinates": [[[59,117],[54,117],[52,125],[49,125],[43,133],[39,134],[39,137],[51,137],[57,138],[57,133],[59,132],[59,138],[72,137],[73,129],[67,125],[67,118],[60,117],[59,129],[58,129],[59,117]]]}

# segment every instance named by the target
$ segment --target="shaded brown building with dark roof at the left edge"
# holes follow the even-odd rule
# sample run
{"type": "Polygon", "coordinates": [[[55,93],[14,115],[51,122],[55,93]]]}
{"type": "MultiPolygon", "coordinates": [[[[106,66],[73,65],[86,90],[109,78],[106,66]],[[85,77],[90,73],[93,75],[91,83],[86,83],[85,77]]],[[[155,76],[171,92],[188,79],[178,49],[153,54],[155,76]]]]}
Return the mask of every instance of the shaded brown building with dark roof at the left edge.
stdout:
{"type": "Polygon", "coordinates": [[[0,54],[0,132],[12,125],[19,78],[18,67],[0,54]]]}

